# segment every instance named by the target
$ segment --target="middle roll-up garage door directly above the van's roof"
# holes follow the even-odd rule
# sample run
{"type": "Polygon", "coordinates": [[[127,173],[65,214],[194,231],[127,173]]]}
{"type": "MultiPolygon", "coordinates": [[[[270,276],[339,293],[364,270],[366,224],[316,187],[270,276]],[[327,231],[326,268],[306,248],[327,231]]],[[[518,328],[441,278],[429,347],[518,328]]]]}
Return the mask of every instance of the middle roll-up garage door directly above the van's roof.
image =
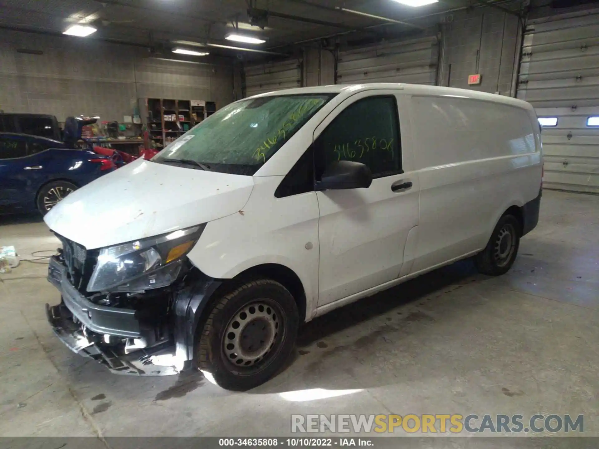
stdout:
{"type": "Polygon", "coordinates": [[[389,41],[339,52],[337,83],[412,83],[437,81],[436,37],[389,41]]]}

